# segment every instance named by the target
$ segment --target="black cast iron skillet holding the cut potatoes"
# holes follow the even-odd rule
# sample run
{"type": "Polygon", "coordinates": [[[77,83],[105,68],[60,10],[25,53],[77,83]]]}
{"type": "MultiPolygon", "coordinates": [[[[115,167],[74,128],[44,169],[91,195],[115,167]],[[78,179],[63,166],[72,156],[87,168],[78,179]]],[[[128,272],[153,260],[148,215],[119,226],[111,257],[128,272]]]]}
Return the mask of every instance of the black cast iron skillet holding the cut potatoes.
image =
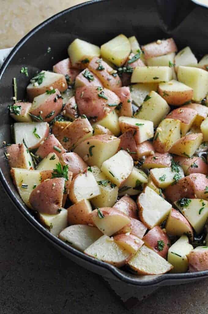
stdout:
{"type": "MultiPolygon", "coordinates": [[[[8,105],[13,104],[12,79],[17,78],[18,99],[24,99],[25,87],[36,71],[50,70],[67,57],[67,47],[79,37],[101,45],[124,33],[136,35],[140,44],[174,37],[178,48],[190,46],[199,57],[206,54],[208,10],[197,1],[183,0],[93,0],[54,15],[30,31],[11,51],[0,70],[0,143],[12,143],[8,105]],[[195,3],[194,3],[195,2],[195,3]],[[47,48],[51,47],[51,52],[47,48]],[[29,78],[20,74],[28,67],[29,78]]],[[[103,263],[68,246],[51,235],[28,211],[19,197],[0,147],[0,179],[19,212],[33,227],[65,256],[102,276],[138,286],[181,284],[208,277],[208,271],[158,276],[137,276],[103,263]]]]}

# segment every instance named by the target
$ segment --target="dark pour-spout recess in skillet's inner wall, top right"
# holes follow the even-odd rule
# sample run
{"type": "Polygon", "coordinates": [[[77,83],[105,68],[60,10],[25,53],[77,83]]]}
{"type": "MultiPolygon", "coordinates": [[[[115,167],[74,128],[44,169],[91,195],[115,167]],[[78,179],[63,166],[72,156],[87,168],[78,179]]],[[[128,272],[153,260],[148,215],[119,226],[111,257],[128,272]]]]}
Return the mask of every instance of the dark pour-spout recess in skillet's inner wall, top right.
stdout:
{"type": "Polygon", "coordinates": [[[174,30],[197,7],[190,0],[156,0],[166,31],[174,30]]]}

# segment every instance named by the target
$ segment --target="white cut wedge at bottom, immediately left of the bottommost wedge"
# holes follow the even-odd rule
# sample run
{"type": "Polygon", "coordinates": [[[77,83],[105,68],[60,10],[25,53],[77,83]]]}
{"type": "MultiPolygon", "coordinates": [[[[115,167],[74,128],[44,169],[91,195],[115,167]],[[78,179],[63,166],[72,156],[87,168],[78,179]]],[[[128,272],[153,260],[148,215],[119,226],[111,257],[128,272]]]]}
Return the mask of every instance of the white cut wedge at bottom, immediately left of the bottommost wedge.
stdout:
{"type": "Polygon", "coordinates": [[[96,227],[88,225],[72,225],[62,230],[59,238],[73,246],[75,249],[84,252],[88,246],[102,236],[102,232],[96,227]]]}

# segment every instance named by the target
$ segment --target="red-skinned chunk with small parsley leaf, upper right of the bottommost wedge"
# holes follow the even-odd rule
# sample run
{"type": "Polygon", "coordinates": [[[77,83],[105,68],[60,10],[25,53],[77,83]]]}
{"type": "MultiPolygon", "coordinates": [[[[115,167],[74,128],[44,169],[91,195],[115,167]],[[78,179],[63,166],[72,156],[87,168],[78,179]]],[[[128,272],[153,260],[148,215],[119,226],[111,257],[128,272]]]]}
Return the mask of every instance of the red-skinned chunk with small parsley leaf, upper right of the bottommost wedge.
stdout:
{"type": "Polygon", "coordinates": [[[153,251],[158,253],[160,256],[166,258],[171,242],[169,237],[159,226],[149,230],[142,240],[149,248],[153,249],[153,251]],[[158,248],[158,241],[160,240],[164,242],[164,247],[161,251],[159,251],[158,248]]]}

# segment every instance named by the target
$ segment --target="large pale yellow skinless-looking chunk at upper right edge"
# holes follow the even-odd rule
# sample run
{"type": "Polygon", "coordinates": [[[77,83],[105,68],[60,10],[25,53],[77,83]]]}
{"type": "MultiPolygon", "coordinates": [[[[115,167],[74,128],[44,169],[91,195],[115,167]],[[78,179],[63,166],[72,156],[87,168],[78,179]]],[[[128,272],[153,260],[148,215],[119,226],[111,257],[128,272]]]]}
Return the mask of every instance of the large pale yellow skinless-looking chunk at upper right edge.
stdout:
{"type": "Polygon", "coordinates": [[[194,90],[193,100],[201,101],[208,91],[208,72],[193,67],[178,67],[178,80],[194,90]]]}

